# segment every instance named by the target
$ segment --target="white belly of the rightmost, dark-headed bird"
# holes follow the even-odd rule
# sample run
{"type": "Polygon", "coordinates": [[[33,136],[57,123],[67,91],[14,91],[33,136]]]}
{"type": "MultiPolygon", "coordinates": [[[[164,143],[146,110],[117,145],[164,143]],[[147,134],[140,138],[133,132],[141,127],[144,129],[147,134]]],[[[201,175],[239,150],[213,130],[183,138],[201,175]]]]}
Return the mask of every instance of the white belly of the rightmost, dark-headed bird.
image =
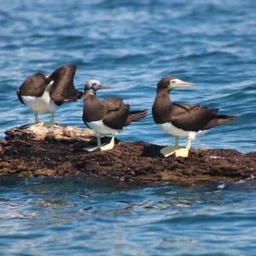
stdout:
{"type": "Polygon", "coordinates": [[[179,129],[172,125],[172,123],[166,123],[166,124],[161,124],[158,126],[162,131],[165,131],[168,134],[172,134],[173,136],[177,137],[189,137],[190,139],[194,140],[195,137],[200,137],[204,134],[206,134],[209,130],[204,130],[204,131],[183,131],[182,129],[179,129]]]}

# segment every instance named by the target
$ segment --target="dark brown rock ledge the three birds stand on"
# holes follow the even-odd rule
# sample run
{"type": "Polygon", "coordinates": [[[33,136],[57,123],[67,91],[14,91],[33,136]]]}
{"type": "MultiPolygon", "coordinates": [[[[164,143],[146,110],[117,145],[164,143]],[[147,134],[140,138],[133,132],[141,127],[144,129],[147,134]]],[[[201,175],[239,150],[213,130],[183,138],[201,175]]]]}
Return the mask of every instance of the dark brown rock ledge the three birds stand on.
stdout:
{"type": "Polygon", "coordinates": [[[20,127],[5,133],[5,141],[0,141],[0,178],[86,173],[138,183],[209,183],[256,177],[256,152],[191,149],[189,158],[164,158],[159,153],[162,146],[118,140],[113,150],[84,152],[81,148],[95,144],[96,138],[93,131],[78,127],[20,127]]]}

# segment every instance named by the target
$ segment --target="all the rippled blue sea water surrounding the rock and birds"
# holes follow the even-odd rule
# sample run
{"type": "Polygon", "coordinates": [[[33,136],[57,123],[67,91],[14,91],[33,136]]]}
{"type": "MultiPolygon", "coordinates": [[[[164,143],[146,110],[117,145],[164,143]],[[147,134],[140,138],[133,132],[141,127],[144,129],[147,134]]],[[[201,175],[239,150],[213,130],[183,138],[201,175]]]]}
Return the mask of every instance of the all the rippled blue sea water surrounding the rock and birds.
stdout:
{"type": "MultiPolygon", "coordinates": [[[[73,64],[78,89],[99,79],[111,86],[101,98],[122,97],[132,109],[151,109],[166,75],[193,82],[194,88],[172,91],[172,100],[238,118],[192,147],[255,151],[255,9],[254,0],[1,1],[0,139],[33,122],[16,97],[24,79],[73,64]]],[[[61,106],[56,122],[84,127],[82,106],[61,106]]],[[[173,143],[151,113],[119,139],[173,143]]],[[[201,186],[1,180],[0,254],[256,255],[255,186],[253,180],[201,186]]]]}

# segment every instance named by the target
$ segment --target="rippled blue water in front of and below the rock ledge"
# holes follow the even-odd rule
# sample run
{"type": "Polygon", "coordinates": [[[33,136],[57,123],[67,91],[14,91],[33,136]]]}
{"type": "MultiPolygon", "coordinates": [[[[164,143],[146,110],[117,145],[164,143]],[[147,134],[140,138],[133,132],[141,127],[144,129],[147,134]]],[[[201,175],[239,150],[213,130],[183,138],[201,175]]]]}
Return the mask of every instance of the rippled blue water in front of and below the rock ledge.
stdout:
{"type": "Polygon", "coordinates": [[[255,186],[10,178],[0,183],[1,247],[37,255],[252,253],[255,186]]]}

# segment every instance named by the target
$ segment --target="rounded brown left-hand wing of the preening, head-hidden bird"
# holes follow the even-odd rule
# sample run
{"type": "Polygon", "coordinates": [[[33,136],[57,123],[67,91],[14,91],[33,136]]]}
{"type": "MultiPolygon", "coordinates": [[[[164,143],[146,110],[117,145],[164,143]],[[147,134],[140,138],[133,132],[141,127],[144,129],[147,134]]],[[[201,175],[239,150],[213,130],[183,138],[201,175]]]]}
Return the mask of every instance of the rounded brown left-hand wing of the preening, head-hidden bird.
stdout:
{"type": "Polygon", "coordinates": [[[45,78],[44,73],[35,73],[20,85],[20,88],[17,90],[17,96],[20,102],[24,104],[21,96],[43,96],[46,87],[47,79],[45,78]]]}

